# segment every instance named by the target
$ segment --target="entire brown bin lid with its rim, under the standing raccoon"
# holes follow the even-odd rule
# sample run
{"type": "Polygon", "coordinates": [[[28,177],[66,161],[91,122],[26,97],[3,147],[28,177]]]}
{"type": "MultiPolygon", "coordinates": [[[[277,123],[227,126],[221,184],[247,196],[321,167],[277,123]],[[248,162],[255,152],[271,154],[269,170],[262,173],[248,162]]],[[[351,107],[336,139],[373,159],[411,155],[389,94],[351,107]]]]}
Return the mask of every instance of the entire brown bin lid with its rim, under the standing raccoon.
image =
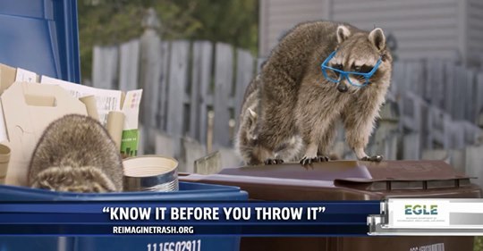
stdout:
{"type": "Polygon", "coordinates": [[[182,181],[240,187],[251,199],[380,199],[383,197],[481,197],[470,177],[441,161],[334,161],[244,166],[218,174],[180,174],[182,181]]]}

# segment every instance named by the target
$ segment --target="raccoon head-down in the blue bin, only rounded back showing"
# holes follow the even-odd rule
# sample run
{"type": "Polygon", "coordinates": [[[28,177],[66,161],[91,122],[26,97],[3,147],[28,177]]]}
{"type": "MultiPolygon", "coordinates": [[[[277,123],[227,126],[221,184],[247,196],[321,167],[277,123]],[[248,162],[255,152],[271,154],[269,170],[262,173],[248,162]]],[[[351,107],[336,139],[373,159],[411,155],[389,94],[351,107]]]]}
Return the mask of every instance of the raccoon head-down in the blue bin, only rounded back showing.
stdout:
{"type": "Polygon", "coordinates": [[[30,159],[29,185],[69,192],[123,190],[123,162],[107,130],[88,116],[53,121],[30,159]]]}

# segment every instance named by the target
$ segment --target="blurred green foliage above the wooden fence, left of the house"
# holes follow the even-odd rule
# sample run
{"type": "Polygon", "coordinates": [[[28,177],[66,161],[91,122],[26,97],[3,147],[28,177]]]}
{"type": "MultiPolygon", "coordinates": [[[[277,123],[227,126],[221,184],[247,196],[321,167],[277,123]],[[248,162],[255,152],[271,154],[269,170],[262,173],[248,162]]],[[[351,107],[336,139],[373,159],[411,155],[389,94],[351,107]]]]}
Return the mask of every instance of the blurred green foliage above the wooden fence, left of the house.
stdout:
{"type": "Polygon", "coordinates": [[[225,42],[257,54],[258,0],[78,0],[83,78],[90,79],[93,46],[140,37],[148,7],[157,12],[162,39],[225,42]]]}

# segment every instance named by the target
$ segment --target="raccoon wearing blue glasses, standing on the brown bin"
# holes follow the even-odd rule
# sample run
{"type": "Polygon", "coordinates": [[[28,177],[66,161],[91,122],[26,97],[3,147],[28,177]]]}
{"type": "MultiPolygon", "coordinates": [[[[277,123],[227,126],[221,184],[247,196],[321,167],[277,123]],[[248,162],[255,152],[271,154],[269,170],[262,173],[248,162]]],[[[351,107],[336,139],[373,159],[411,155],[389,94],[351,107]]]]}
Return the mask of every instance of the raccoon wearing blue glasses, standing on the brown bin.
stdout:
{"type": "Polygon", "coordinates": [[[313,21],[297,25],[260,71],[257,142],[250,164],[282,163],[276,149],[301,137],[303,165],[328,161],[338,121],[359,160],[390,85],[392,56],[382,29],[313,21]]]}

